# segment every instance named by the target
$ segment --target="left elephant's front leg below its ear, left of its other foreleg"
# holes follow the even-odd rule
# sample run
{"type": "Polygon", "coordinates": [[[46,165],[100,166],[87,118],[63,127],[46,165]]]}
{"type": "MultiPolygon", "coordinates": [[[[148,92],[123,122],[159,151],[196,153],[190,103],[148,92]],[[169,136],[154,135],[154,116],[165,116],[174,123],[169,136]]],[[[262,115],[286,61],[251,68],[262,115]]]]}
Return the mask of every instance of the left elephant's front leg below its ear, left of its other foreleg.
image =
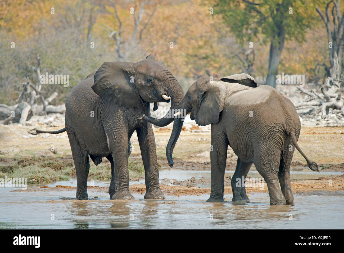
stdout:
{"type": "Polygon", "coordinates": [[[116,133],[112,129],[105,127],[109,150],[114,162],[114,183],[109,188],[111,199],[135,199],[129,192],[129,170],[128,170],[128,132],[125,127],[116,128],[116,133]],[[112,187],[112,189],[111,189],[112,187]],[[113,187],[115,192],[113,192],[113,187]]]}

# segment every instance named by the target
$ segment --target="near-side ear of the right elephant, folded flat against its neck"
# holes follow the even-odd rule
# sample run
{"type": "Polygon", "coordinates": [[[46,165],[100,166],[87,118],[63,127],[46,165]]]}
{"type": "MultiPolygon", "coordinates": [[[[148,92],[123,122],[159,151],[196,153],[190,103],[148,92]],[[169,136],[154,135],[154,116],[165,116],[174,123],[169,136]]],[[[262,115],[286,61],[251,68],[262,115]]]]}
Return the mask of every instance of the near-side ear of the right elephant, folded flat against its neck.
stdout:
{"type": "Polygon", "coordinates": [[[209,89],[202,94],[200,99],[200,108],[195,118],[197,125],[206,126],[218,123],[221,106],[219,95],[219,87],[209,83],[209,89]]]}

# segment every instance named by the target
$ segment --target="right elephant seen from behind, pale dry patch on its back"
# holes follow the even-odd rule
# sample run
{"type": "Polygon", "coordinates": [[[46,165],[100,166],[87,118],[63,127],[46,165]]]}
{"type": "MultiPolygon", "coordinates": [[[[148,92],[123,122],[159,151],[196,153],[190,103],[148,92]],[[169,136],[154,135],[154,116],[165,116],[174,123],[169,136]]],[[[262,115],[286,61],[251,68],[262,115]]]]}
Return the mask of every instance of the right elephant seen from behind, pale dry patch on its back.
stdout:
{"type": "MultiPolygon", "coordinates": [[[[183,119],[190,113],[200,126],[211,124],[211,194],[207,202],[223,202],[228,145],[238,156],[231,180],[233,202],[249,202],[245,183],[236,184],[252,165],[264,177],[270,205],[293,205],[290,164],[295,147],[311,170],[319,171],[300,149],[300,118],[292,102],[268,85],[257,87],[253,77],[241,73],[221,79],[200,77],[186,92],[174,114],[171,137],[166,146],[169,165],[181,132],[183,119]],[[178,117],[177,117],[178,116],[178,117]],[[280,185],[279,185],[280,184],[280,185]]],[[[149,118],[144,118],[150,122],[149,118]]]]}

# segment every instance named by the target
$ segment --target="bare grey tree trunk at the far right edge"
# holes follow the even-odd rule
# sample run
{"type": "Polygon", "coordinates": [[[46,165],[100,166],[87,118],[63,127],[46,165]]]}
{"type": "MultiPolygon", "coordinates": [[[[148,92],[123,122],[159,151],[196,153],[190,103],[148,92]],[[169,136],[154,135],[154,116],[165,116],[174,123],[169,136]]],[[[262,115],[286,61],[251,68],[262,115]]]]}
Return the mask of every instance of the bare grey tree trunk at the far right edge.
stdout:
{"type": "MultiPolygon", "coordinates": [[[[329,43],[329,56],[330,56],[330,66],[325,65],[325,70],[327,76],[334,75],[335,68],[335,54],[338,57],[338,73],[342,73],[342,60],[343,60],[343,50],[344,50],[344,11],[341,14],[340,11],[340,0],[329,1],[325,7],[325,14],[320,10],[319,7],[315,7],[316,11],[319,13],[321,19],[324,21],[326,32],[327,32],[327,41],[329,43]],[[332,3],[332,10],[330,15],[332,3]]],[[[340,78],[338,76],[337,78],[340,78]]]]}

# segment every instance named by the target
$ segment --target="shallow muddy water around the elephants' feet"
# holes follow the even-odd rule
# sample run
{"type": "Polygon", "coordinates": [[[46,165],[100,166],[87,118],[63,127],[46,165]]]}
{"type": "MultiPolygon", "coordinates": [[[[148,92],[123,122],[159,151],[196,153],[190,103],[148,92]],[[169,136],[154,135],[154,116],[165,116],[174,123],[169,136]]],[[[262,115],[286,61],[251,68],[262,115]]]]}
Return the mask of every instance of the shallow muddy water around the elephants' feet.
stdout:
{"type": "MultiPolygon", "coordinates": [[[[161,171],[160,178],[208,177],[205,172],[210,173],[185,171],[181,175],[180,171],[161,171]]],[[[322,173],[317,176],[324,176],[322,173]]],[[[46,185],[75,187],[76,180],[46,185]]],[[[109,182],[95,181],[94,185],[108,187],[109,182]]],[[[98,199],[78,201],[74,199],[75,189],[45,191],[41,187],[29,186],[31,190],[25,192],[1,187],[0,228],[341,229],[344,226],[342,196],[294,195],[294,206],[270,206],[268,193],[257,192],[250,193],[251,203],[237,205],[229,202],[232,194],[225,194],[224,203],[205,203],[208,194],[144,200],[143,194],[134,193],[135,200],[109,200],[107,192],[95,188],[89,189],[88,195],[98,199]]]]}

